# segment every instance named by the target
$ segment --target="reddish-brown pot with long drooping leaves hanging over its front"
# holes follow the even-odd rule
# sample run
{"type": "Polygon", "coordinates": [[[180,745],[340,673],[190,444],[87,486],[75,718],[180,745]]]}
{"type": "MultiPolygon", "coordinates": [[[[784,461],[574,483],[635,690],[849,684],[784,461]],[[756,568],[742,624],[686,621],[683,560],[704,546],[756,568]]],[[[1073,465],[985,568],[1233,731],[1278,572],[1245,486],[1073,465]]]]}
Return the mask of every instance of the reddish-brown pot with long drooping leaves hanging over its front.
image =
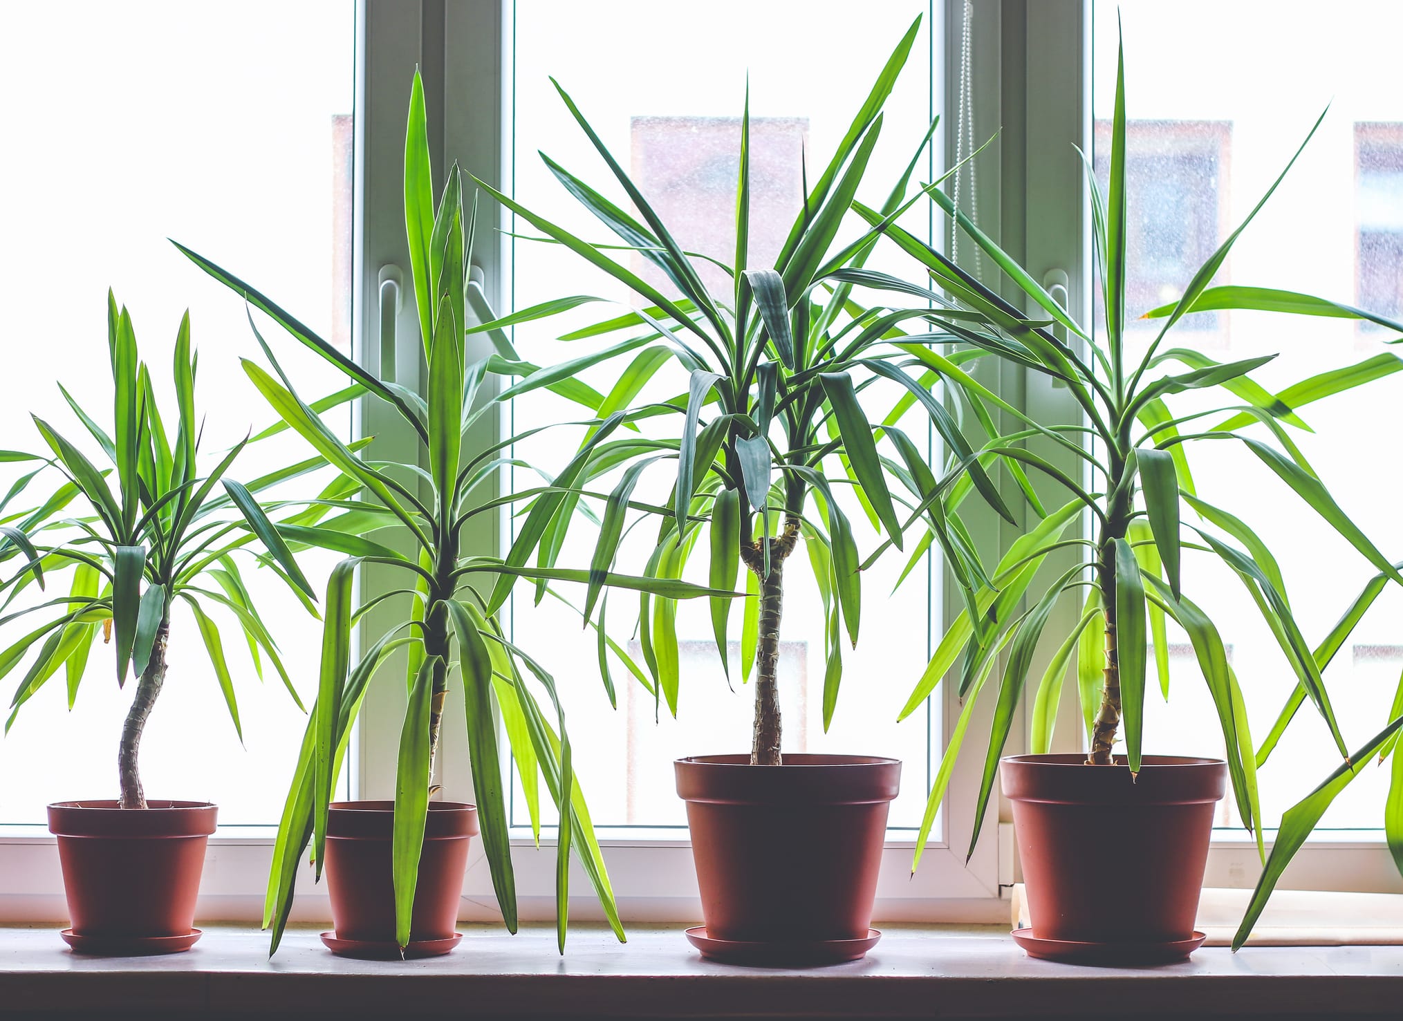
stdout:
{"type": "MultiPolygon", "coordinates": [[[[446,954],[462,938],[457,906],[463,895],[467,847],[477,834],[477,809],[431,801],[414,886],[407,954],[446,954]]],[[[327,815],[327,892],[335,937],[323,935],[335,954],[400,956],[394,940],[393,801],[337,801],[327,815]]]]}

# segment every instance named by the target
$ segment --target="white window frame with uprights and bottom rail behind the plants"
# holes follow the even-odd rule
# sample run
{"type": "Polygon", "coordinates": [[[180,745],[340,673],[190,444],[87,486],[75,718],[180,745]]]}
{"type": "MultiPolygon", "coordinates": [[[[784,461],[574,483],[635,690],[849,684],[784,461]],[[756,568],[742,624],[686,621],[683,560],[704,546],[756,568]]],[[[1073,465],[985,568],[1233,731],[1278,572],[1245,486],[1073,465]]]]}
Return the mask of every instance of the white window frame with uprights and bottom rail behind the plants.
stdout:
{"type": "MultiPolygon", "coordinates": [[[[582,0],[589,1],[589,0],[582,0]]],[[[600,0],[603,1],[603,0],[600,0]]],[[[1068,307],[1085,317],[1090,303],[1090,244],[1086,194],[1072,143],[1090,137],[1090,3],[1092,0],[976,0],[974,4],[972,69],[975,136],[1000,130],[996,146],[979,164],[979,220],[1010,254],[1021,258],[1035,279],[1056,279],[1066,288],[1068,307]],[[1076,195],[1078,202],[1068,201],[1076,195]],[[1054,276],[1061,273],[1061,276],[1054,276]]],[[[375,372],[396,362],[401,383],[417,384],[421,345],[412,302],[382,309],[393,299],[384,288],[400,268],[400,293],[408,280],[404,240],[401,158],[407,83],[419,66],[428,93],[429,139],[434,165],[449,161],[499,184],[509,139],[512,0],[359,0],[356,11],[355,107],[355,288],[354,335],[356,358],[375,372]],[[391,268],[391,269],[386,269],[391,268]],[[386,314],[387,313],[387,314],[386,314]]],[[[932,25],[934,52],[943,53],[937,88],[958,95],[962,0],[936,3],[932,25]]],[[[937,100],[944,98],[937,97],[937,100]]],[[[951,109],[951,102],[939,108],[951,109]]],[[[954,151],[957,118],[943,118],[946,151],[954,151]]],[[[481,208],[485,223],[498,210],[481,208]]],[[[480,237],[487,237],[480,231],[480,237]]],[[[484,244],[474,254],[481,286],[494,307],[501,302],[501,252],[484,244]]],[[[1012,292],[1009,292],[1012,296],[1012,292]]],[[[480,341],[483,342],[483,341],[480,341]]],[[[1065,390],[1016,366],[982,365],[986,386],[1041,421],[1078,421],[1079,411],[1065,390]]],[[[358,429],[376,435],[384,457],[404,457],[414,438],[393,417],[368,404],[358,429]]],[[[477,438],[497,439],[497,425],[477,438]]],[[[1079,466],[1065,466],[1069,470],[1079,466]]],[[[1010,494],[1013,496],[1014,494],[1010,494]]],[[[1010,505],[1020,501],[1010,499],[1010,505]]],[[[1017,529],[988,515],[972,522],[981,553],[998,557],[1017,537],[1017,529]]],[[[497,553],[495,526],[473,537],[474,548],[497,553]]],[[[362,596],[383,590],[386,579],[365,569],[362,596]]],[[[948,617],[960,602],[944,579],[943,606],[948,617]]],[[[1070,614],[1072,609],[1059,613],[1070,614]]],[[[383,630],[393,623],[389,604],[377,607],[365,626],[383,630]]],[[[1070,621],[1068,621],[1070,623],[1070,621]]],[[[393,669],[393,666],[390,668],[393,669]]],[[[1034,665],[1038,670],[1040,665],[1034,665]]],[[[460,698],[455,693],[455,698],[460,698]]],[[[944,736],[958,717],[954,686],[941,686],[944,736]]],[[[390,798],[396,748],[405,696],[400,686],[370,687],[352,743],[348,784],[354,797],[390,798]]],[[[460,711],[460,704],[449,712],[460,711]]],[[[975,735],[986,733],[991,710],[972,721],[975,735]]],[[[1026,750],[1027,721],[1020,712],[1007,752],[1026,750]]],[[[1079,750],[1080,722],[1072,700],[1058,718],[1054,750],[1079,750]]],[[[471,799],[466,738],[445,728],[439,756],[443,797],[471,799]]],[[[925,763],[911,769],[908,783],[925,781],[925,763]]],[[[506,764],[504,763],[504,769],[506,764]]],[[[981,757],[967,749],[955,767],[943,806],[944,834],[933,840],[919,872],[911,878],[911,839],[888,840],[875,917],[885,921],[979,921],[1007,919],[1007,885],[1017,878],[1009,813],[999,805],[999,823],[985,826],[967,864],[981,757]],[[1000,896],[1003,899],[1000,899],[1000,896]]],[[[513,839],[513,863],[521,917],[554,917],[553,839],[543,833],[537,851],[532,840],[513,839]]],[[[610,878],[626,921],[693,921],[700,917],[692,854],[685,837],[615,839],[602,836],[610,878]]],[[[272,830],[220,827],[209,841],[199,914],[253,921],[261,917],[272,830]]],[[[1215,837],[1205,884],[1249,886],[1260,864],[1244,840],[1215,837]]],[[[1331,833],[1313,840],[1296,856],[1284,886],[1302,889],[1403,891],[1382,834],[1331,833]]],[[[600,912],[584,872],[572,874],[571,914],[599,919],[600,912]]],[[[53,839],[42,826],[0,830],[0,921],[59,923],[66,919],[62,875],[53,839]]],[[[330,917],[324,886],[314,886],[304,868],[293,920],[330,917]]],[[[463,888],[464,920],[499,917],[481,848],[474,847],[463,888]]]]}

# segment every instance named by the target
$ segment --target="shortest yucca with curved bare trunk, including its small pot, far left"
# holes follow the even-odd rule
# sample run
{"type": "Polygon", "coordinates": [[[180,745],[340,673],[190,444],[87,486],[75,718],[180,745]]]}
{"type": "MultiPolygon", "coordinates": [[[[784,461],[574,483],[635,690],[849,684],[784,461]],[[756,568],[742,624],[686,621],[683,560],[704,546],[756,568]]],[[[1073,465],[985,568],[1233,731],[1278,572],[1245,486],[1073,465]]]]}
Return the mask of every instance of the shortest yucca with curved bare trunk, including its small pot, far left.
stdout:
{"type": "MultiPolygon", "coordinates": [[[[6,518],[10,523],[0,526],[4,536],[0,560],[20,561],[4,583],[8,589],[4,606],[10,607],[31,583],[43,589],[46,579],[66,568],[73,569],[73,581],[66,596],[45,599],[0,618],[10,623],[39,611],[52,616],[0,656],[0,676],[17,669],[36,649],[15,689],[6,731],[20,708],[60,669],[67,676],[72,707],[100,634],[115,648],[118,684],[129,673],[136,677],[118,746],[119,797],[49,805],[49,830],[58,836],[72,917],[72,928],[63,931],[63,938],[83,952],[163,954],[187,949],[201,935],[192,928],[195,898],[205,841],[215,832],[217,811],[203,802],[149,799],[142,787],[142,732],[166,683],[171,613],[181,600],[194,614],[236,731],[240,722],[233,677],[210,610],[234,616],[255,665],[261,652],[297,700],[234,554],[253,553],[290,586],[311,595],[254,492],[306,473],[320,460],[271,473],[244,487],[226,473],[250,442],[246,438],[212,471],[199,474],[196,356],[188,313],[175,339],[174,415],[160,412],[152,374],[139,359],[132,317],[125,307],[118,309],[111,293],[108,349],[114,431],[108,433],[90,418],[66,390],[63,395],[112,467],[98,468],[55,426],[34,419],[52,450],[52,457],[35,460],[46,460],[66,481],[39,508],[10,513],[6,518]],[[174,425],[174,435],[166,432],[166,422],[174,425]],[[88,515],[73,516],[69,509],[79,496],[88,503],[88,515]],[[254,543],[261,543],[262,550],[254,543]]],[[[17,457],[27,456],[13,454],[10,460],[17,457]]],[[[22,492],[43,467],[18,480],[10,498],[22,492]]],[[[325,510],[309,506],[289,522],[311,523],[325,510]]]]}

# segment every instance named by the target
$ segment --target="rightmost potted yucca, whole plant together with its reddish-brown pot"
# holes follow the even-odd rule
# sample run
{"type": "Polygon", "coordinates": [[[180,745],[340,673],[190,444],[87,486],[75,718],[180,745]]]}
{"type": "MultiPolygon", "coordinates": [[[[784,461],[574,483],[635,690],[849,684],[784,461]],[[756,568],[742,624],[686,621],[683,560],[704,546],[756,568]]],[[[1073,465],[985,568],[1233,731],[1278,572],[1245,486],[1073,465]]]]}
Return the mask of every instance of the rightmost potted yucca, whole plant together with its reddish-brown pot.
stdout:
{"type": "MultiPolygon", "coordinates": [[[[1291,164],[1282,177],[1289,168],[1291,164]]],[[[1087,164],[1092,236],[1106,310],[1104,334],[1083,330],[940,192],[930,192],[933,201],[995,261],[1027,297],[1030,307],[1035,306],[1035,314],[1044,317],[1044,323],[1030,320],[953,261],[894,224],[882,227],[920,262],[948,300],[978,314],[978,327],[953,327],[962,341],[974,351],[1049,376],[1068,388],[1085,412],[1082,425],[1051,428],[1019,415],[1012,407],[1003,408],[1020,417],[1020,425],[1026,428],[991,439],[981,456],[1040,474],[1070,499],[1052,510],[1033,503],[1037,510],[1033,527],[989,574],[992,583],[971,588],[975,613],[965,611],[947,631],[902,714],[915,710],[947,672],[948,683],[958,683],[964,707],[930,791],[925,825],[918,837],[919,861],[969,717],[981,696],[985,703],[993,700],[975,834],[984,820],[995,776],[1002,773],[1005,797],[1013,802],[1033,920],[1031,931],[1020,930],[1014,938],[1035,956],[1148,961],[1181,958],[1197,948],[1202,934],[1194,933],[1194,916],[1214,802],[1223,795],[1229,778],[1237,811],[1261,847],[1263,818],[1256,770],[1280,735],[1274,732],[1263,752],[1254,750],[1242,690],[1219,631],[1187,595],[1190,583],[1186,583],[1181,569],[1186,551],[1222,561],[1242,579],[1299,679],[1301,697],[1289,708],[1294,711],[1302,700],[1310,700],[1330,728],[1345,763],[1341,767],[1344,771],[1348,771],[1350,762],[1362,762],[1392,733],[1385,731],[1362,753],[1350,755],[1320,675],[1357,617],[1347,616],[1336,634],[1312,652],[1282,596],[1280,568],[1271,551],[1247,523],[1208,502],[1207,494],[1195,488],[1187,450],[1204,442],[1222,440],[1244,447],[1379,569],[1378,588],[1388,579],[1403,582],[1397,569],[1330,496],[1288,433],[1288,426],[1303,425],[1296,414],[1301,404],[1396,372],[1399,359],[1379,355],[1361,365],[1315,376],[1284,391],[1291,397],[1285,400],[1251,377],[1270,356],[1218,363],[1193,349],[1163,346],[1169,331],[1184,316],[1200,310],[1258,309],[1350,317],[1403,330],[1379,316],[1306,295],[1266,288],[1209,286],[1233,243],[1280,181],[1278,177],[1242,226],[1194,273],[1184,295],[1173,304],[1146,314],[1148,318],[1163,320],[1163,325],[1138,358],[1131,356],[1125,334],[1124,60],[1117,77],[1110,178],[1104,192],[1087,164]],[[1065,328],[1072,339],[1059,339],[1048,324],[1065,328]],[[1225,394],[1223,404],[1204,410],[1200,400],[1191,410],[1172,410],[1176,394],[1214,388],[1225,394]],[[1243,432],[1244,426],[1257,424],[1277,443],[1243,432]],[[1069,438],[1075,436],[1086,436],[1092,442],[1072,442],[1069,438]],[[1026,446],[1028,440],[1041,443],[1042,449],[1026,446]],[[1048,459],[1049,450],[1075,457],[1080,471],[1054,464],[1048,459]],[[1090,540],[1076,534],[1087,512],[1096,527],[1090,540]],[[1048,578],[1040,574],[1040,567],[1054,554],[1065,555],[1061,551],[1066,550],[1078,551],[1075,562],[1065,569],[1059,565],[1052,572],[1051,583],[1042,588],[1048,578]],[[1048,631],[1049,616],[1059,600],[1073,593],[1080,597],[1083,589],[1082,613],[1069,631],[1055,635],[1055,652],[1034,696],[1034,753],[1000,760],[1034,652],[1048,631]],[[1026,596],[1027,606],[1021,602],[1026,596]],[[1193,644],[1212,694],[1226,762],[1143,753],[1148,647],[1153,638],[1157,673],[1167,693],[1166,620],[1177,623],[1193,644]],[[1005,648],[1007,659],[1002,676],[998,684],[986,686],[996,654],[1005,648]],[[1063,675],[1073,658],[1089,752],[1048,755],[1063,675]],[[960,668],[953,670],[957,661],[960,668]],[[1125,742],[1122,756],[1113,755],[1120,736],[1125,742]]],[[[857,210],[868,223],[882,223],[878,212],[863,206],[857,210]]],[[[962,376],[958,366],[946,365],[939,355],[913,353],[946,379],[958,381],[962,376]]],[[[968,394],[969,388],[964,393],[968,394]]],[[[1289,719],[1289,712],[1284,719],[1289,719]]],[[[1319,812],[1305,825],[1305,832],[1315,819],[1319,819],[1319,812]]],[[[1277,874],[1299,841],[1289,847],[1278,843],[1274,848],[1277,874]]],[[[1260,910],[1260,903],[1254,905],[1254,910],[1260,910]]],[[[1250,920],[1244,923],[1240,937],[1246,935],[1246,928],[1250,928],[1250,920]]]]}

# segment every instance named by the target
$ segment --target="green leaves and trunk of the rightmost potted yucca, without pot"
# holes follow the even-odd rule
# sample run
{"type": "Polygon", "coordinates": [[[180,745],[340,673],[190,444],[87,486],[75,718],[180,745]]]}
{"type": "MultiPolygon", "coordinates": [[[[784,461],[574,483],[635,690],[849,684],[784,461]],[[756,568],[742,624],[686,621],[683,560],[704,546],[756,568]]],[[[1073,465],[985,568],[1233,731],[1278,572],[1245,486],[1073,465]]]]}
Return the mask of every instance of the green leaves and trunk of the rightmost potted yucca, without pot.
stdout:
{"type": "MultiPolygon", "coordinates": [[[[1324,114],[1320,119],[1323,116],[1324,114]]],[[[1034,753],[1045,753],[1049,748],[1063,675],[1075,661],[1078,694],[1087,729],[1087,764],[1111,763],[1113,746],[1118,736],[1124,736],[1125,767],[1131,773],[1141,769],[1150,645],[1156,673],[1167,694],[1166,620],[1176,621],[1193,644],[1216,710],[1237,809],[1256,833],[1258,848],[1263,841],[1263,818],[1257,797],[1257,769],[1266,763],[1302,701],[1309,698],[1330,729],[1344,764],[1322,792],[1312,795],[1312,805],[1317,811],[1308,822],[1294,827],[1282,825],[1235,945],[1246,938],[1275,877],[1320,818],[1324,805],[1343,787],[1341,778],[1347,778],[1351,764],[1367,760],[1390,742],[1403,722],[1393,719],[1385,731],[1352,753],[1336,724],[1322,670],[1358,621],[1362,607],[1389,579],[1403,582],[1403,576],[1336,503],[1289,432],[1292,428],[1306,428],[1298,415],[1302,405],[1397,372],[1403,363],[1390,353],[1378,355],[1358,365],[1312,376],[1273,394],[1251,376],[1273,356],[1218,363],[1198,351],[1164,345],[1170,330],[1186,316],[1233,309],[1369,320],[1403,331],[1403,325],[1385,317],[1308,295],[1267,288],[1209,286],[1242,231],[1281,184],[1319,123],[1317,119],[1287,168],[1243,223],[1193,275],[1183,296],[1172,304],[1145,313],[1146,318],[1163,323],[1138,358],[1131,356],[1127,339],[1125,282],[1129,266],[1124,50],[1117,73],[1110,177],[1104,189],[1092,164],[1083,160],[1092,195],[1092,237],[1103,288],[1104,331],[1083,328],[991,237],[957,210],[944,194],[929,192],[941,212],[953,217],[1021,292],[1037,320],[999,297],[950,258],[898,226],[884,223],[880,212],[856,206],[868,223],[881,226],[887,237],[920,264],[946,300],[979,316],[978,327],[953,327],[961,341],[975,351],[1051,377],[1058,386],[1066,387],[1085,417],[1082,424],[1049,426],[1005,405],[1003,410],[1021,419],[1024,428],[979,452],[981,459],[1003,460],[1042,475],[1070,499],[1051,510],[1033,502],[1037,513],[1033,527],[989,574],[992,583],[969,593],[976,611],[962,613],[944,634],[902,711],[905,717],[919,707],[958,662],[951,680],[958,683],[964,707],[930,791],[918,840],[918,861],[974,707],[995,666],[996,654],[1007,647],[1006,666],[996,684],[993,728],[975,809],[974,839],[978,839],[999,757],[1023,698],[1034,652],[1044,638],[1054,607],[1068,596],[1080,599],[1086,593],[1082,613],[1070,631],[1056,635],[1055,651],[1034,696],[1034,753]],[[1056,327],[1063,328],[1069,339],[1061,339],[1054,332],[1056,327]],[[1188,412],[1172,410],[1174,395],[1202,390],[1219,391],[1223,401],[1211,410],[1202,410],[1201,403],[1188,412]],[[1261,426],[1275,443],[1244,432],[1254,425],[1261,426]],[[1063,457],[1075,456],[1082,470],[1062,470],[1048,460],[1047,450],[1040,453],[1030,449],[1028,442],[1055,445],[1047,450],[1061,452],[1063,457]],[[1188,452],[1207,442],[1229,442],[1254,456],[1324,525],[1338,532],[1378,568],[1379,576],[1371,588],[1317,648],[1310,648],[1292,614],[1280,568],[1267,546],[1246,522],[1209,502],[1197,489],[1188,452]],[[1087,512],[1096,529],[1090,539],[1078,532],[1079,522],[1087,512]],[[1049,555],[1066,550],[1079,553],[1076,562],[1069,569],[1059,569],[1051,583],[1041,588],[1047,578],[1040,575],[1040,565],[1049,555]],[[1186,553],[1221,561],[1242,579],[1298,679],[1295,694],[1260,748],[1254,748],[1249,733],[1242,691],[1228,663],[1218,627],[1186,592],[1186,588],[1191,588],[1186,586],[1186,571],[1181,568],[1186,553]],[[1026,597],[1031,609],[1024,610],[1020,603],[1026,597]]],[[[943,374],[948,377],[953,373],[944,370],[943,374]]],[[[954,379],[960,379],[958,374],[954,379]]],[[[1298,809],[1294,812],[1296,823],[1301,823],[1303,813],[1298,809]]],[[[971,841],[971,854],[972,851],[971,841]]]]}

